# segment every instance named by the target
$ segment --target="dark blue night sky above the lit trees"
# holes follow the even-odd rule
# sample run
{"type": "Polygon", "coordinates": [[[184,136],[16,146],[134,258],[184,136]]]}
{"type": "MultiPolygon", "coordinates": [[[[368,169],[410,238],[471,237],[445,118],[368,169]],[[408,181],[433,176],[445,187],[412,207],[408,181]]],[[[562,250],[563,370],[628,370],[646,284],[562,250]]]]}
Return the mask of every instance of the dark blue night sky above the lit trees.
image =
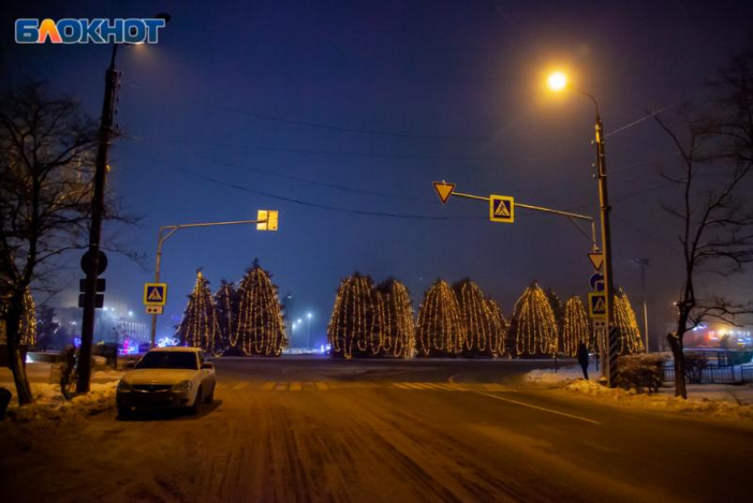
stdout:
{"type": "MultiPolygon", "coordinates": [[[[107,302],[143,321],[157,228],[280,212],[280,230],[183,230],[167,241],[167,314],[179,316],[198,267],[213,287],[252,259],[291,292],[296,317],[324,326],[340,278],[390,275],[417,307],[431,282],[470,276],[506,313],[536,279],[564,299],[585,295],[590,244],[560,217],[516,211],[488,221],[484,203],[439,204],[431,182],[512,195],[518,202],[597,216],[591,178],[593,105],[553,97],[544,77],[568,70],[600,101],[606,131],[689,99],[753,33],[746,2],[105,2],[7,3],[3,85],[45,80],[98,118],[109,49],[13,42],[19,17],[172,15],[157,45],[121,48],[110,187],[142,217],[119,239],[147,257],[110,254],[107,302]],[[377,214],[374,214],[377,213],[377,214]],[[436,217],[446,220],[432,220],[436,217]]],[[[649,319],[672,321],[677,232],[659,207],[671,193],[657,166],[677,161],[644,120],[607,141],[617,284],[638,309],[648,267],[649,319]]],[[[113,228],[109,228],[112,234],[113,228]]],[[[63,277],[82,277],[67,256],[63,277]]],[[[704,280],[706,281],[706,280],[704,280]]],[[[750,294],[750,277],[722,290],[750,294]]],[[[51,303],[74,306],[77,290],[51,303]]],[[[160,335],[175,322],[160,319],[160,335]]]]}

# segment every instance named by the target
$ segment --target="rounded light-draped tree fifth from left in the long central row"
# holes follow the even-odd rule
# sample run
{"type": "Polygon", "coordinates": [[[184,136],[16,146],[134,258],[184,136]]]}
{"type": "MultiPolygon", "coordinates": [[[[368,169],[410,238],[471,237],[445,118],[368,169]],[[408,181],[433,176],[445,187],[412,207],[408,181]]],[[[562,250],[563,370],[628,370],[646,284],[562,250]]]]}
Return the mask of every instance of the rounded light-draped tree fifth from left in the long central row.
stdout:
{"type": "Polygon", "coordinates": [[[557,323],[549,299],[535,282],[517,299],[512,331],[518,356],[554,355],[557,323]]]}

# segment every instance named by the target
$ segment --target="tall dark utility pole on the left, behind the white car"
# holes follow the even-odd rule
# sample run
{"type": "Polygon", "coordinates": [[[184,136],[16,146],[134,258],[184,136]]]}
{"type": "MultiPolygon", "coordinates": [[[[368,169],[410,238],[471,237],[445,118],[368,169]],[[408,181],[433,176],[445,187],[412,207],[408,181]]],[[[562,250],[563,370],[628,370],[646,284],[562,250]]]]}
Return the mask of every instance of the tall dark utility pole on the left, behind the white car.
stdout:
{"type": "Polygon", "coordinates": [[[113,44],[113,57],[105,72],[105,101],[99,125],[99,142],[94,172],[94,193],[91,200],[91,223],[89,226],[89,270],[86,272],[84,291],[82,345],[79,356],[78,383],[76,392],[89,392],[91,375],[91,344],[94,341],[94,317],[97,309],[97,276],[99,275],[99,244],[102,238],[102,216],[105,212],[105,178],[107,175],[107,150],[113,136],[113,116],[118,93],[119,73],[115,69],[118,44],[113,44]]]}

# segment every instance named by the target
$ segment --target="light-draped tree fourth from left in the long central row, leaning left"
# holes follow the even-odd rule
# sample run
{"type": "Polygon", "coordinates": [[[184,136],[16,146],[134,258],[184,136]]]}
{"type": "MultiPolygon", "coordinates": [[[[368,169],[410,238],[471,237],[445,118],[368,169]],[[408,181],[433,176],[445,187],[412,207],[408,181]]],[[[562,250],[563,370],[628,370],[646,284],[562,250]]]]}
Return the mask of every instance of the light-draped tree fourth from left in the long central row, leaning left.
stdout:
{"type": "Polygon", "coordinates": [[[499,356],[503,352],[504,332],[499,315],[490,308],[484,292],[468,278],[456,282],[453,290],[466,329],[463,355],[499,356]]]}

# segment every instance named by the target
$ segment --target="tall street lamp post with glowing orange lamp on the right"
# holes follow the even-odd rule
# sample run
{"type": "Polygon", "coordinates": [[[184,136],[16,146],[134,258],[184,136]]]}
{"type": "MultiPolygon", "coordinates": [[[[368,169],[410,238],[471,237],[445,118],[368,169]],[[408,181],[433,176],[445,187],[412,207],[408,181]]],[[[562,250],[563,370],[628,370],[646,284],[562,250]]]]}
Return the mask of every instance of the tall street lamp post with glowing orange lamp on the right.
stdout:
{"type": "MultiPolygon", "coordinates": [[[[549,75],[547,81],[549,88],[560,91],[567,86],[567,76],[560,72],[549,75]]],[[[596,98],[586,91],[575,89],[578,93],[589,98],[594,103],[596,112],[594,126],[594,145],[596,146],[596,180],[599,184],[599,213],[602,221],[602,253],[604,255],[604,291],[605,311],[607,313],[607,349],[608,356],[606,360],[606,374],[609,387],[615,386],[615,377],[617,374],[617,329],[613,327],[614,321],[614,281],[612,274],[612,239],[611,227],[609,225],[609,190],[607,187],[607,159],[604,151],[604,126],[602,116],[599,112],[599,102],[596,98]]]]}

